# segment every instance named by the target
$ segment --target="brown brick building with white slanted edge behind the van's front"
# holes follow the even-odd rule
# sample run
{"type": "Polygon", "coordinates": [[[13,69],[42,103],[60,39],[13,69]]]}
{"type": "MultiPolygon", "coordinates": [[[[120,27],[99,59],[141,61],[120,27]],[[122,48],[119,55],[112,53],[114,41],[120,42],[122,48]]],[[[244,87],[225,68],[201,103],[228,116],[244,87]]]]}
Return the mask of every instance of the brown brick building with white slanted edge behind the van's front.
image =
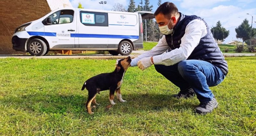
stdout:
{"type": "Polygon", "coordinates": [[[69,0],[1,0],[0,5],[0,54],[24,54],[12,49],[12,35],[18,26],[57,8],[72,7],[69,0]]]}

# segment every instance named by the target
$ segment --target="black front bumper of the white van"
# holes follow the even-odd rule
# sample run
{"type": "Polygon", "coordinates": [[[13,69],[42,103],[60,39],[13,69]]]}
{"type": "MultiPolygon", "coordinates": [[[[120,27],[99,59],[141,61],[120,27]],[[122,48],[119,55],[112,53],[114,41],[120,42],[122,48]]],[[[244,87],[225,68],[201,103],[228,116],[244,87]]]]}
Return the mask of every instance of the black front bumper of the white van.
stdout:
{"type": "Polygon", "coordinates": [[[13,36],[12,37],[12,49],[14,49],[15,51],[24,51],[25,50],[25,46],[26,46],[26,42],[27,42],[28,38],[19,38],[18,36],[13,36]]]}

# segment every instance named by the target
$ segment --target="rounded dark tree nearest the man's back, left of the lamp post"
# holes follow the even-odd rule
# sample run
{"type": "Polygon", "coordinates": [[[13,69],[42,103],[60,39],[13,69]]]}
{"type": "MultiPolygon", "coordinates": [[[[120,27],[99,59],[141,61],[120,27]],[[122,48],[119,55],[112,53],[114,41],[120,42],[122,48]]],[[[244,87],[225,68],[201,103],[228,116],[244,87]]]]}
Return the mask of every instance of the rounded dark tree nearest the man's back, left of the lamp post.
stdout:
{"type": "Polygon", "coordinates": [[[215,40],[223,41],[229,35],[229,30],[221,26],[220,21],[216,23],[216,26],[211,28],[211,32],[214,34],[213,37],[215,40]]]}

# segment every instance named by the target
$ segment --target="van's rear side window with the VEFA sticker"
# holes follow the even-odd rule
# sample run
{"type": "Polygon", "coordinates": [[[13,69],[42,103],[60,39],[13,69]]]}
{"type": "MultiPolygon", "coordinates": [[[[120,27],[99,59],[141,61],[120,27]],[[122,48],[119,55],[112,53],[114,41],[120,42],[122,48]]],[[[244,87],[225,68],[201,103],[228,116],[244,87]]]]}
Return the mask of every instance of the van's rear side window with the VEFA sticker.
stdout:
{"type": "Polygon", "coordinates": [[[85,26],[108,27],[108,13],[80,11],[80,22],[85,26]]]}

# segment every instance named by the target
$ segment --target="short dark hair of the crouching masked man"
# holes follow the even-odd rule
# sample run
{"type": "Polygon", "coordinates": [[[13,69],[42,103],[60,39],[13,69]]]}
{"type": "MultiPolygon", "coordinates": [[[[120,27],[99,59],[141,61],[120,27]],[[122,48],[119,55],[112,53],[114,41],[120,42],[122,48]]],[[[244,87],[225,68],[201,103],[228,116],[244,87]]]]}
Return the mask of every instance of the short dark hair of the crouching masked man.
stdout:
{"type": "Polygon", "coordinates": [[[171,3],[171,2],[165,2],[165,3],[161,4],[161,5],[157,8],[156,12],[154,13],[154,16],[156,16],[156,15],[162,13],[162,14],[164,14],[164,16],[170,18],[171,16],[176,15],[176,13],[178,13],[178,12],[179,12],[179,11],[178,11],[177,6],[175,6],[175,5],[174,5],[173,3],[171,3]]]}

